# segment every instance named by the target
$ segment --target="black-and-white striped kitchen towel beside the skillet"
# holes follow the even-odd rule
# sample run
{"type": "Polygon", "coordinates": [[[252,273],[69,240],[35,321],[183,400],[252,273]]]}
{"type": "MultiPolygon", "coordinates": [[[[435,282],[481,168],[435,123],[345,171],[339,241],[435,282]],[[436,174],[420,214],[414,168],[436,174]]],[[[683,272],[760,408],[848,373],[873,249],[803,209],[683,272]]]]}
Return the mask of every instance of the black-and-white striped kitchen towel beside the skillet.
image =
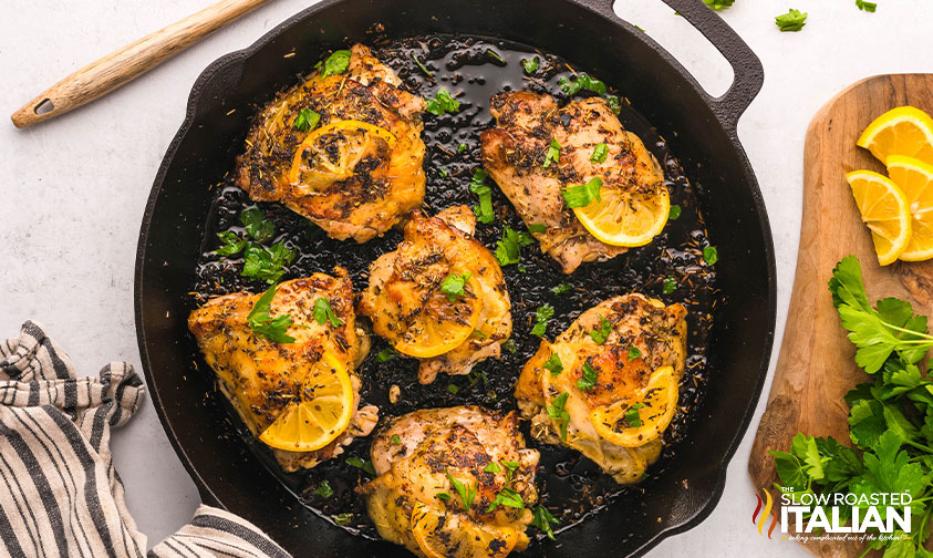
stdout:
{"type": "MultiPolygon", "coordinates": [[[[111,426],[133,416],[143,393],[125,362],[76,378],[34,322],[0,342],[0,555],[146,556],[110,453],[111,426]]],[[[249,521],[210,506],[148,556],[289,558],[249,521]]]]}

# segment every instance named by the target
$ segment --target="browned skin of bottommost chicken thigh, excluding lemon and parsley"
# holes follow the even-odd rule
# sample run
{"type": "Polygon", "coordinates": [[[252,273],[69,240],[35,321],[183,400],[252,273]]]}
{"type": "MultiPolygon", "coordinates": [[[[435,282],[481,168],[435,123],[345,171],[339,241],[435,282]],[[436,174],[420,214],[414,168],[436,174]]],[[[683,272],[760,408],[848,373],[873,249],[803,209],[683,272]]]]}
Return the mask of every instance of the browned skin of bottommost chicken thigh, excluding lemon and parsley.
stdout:
{"type": "MultiPolygon", "coordinates": [[[[473,524],[510,527],[518,533],[515,549],[528,546],[525,530],[538,500],[535,471],[540,455],[525,447],[515,412],[502,415],[478,406],[415,411],[383,427],[373,438],[370,456],[377,477],[359,490],[366,497],[370,517],[384,539],[424,557],[412,534],[413,512],[421,505],[443,514],[448,529],[473,524]],[[518,464],[508,486],[521,495],[525,507],[500,505],[488,512],[506,487],[504,462],[518,464]],[[490,464],[498,465],[499,472],[484,471],[490,464]],[[448,474],[476,488],[469,509],[448,474]],[[452,497],[438,498],[442,493],[452,497]]],[[[488,551],[449,548],[445,554],[487,556],[488,551]]]]}

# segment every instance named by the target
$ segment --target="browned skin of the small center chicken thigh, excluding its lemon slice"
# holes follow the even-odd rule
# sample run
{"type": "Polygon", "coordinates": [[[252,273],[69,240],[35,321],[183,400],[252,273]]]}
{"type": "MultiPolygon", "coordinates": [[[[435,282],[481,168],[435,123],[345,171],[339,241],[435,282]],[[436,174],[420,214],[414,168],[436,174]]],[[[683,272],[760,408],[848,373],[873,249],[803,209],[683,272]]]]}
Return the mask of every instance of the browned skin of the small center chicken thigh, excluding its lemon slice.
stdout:
{"type": "MultiPolygon", "coordinates": [[[[422,359],[421,383],[432,383],[438,372],[468,374],[488,358],[498,359],[501,343],[511,335],[511,302],[499,262],[473,238],[476,217],[467,206],[444,209],[436,217],[415,211],[405,225],[398,249],[370,266],[370,283],[357,309],[373,322],[373,330],[395,344],[426,302],[437,298],[450,273],[471,273],[479,287],[483,309],[476,331],[453,350],[422,359]]],[[[442,304],[444,300],[442,299],[442,304]]],[[[455,319],[456,317],[452,318],[455,319]]]]}

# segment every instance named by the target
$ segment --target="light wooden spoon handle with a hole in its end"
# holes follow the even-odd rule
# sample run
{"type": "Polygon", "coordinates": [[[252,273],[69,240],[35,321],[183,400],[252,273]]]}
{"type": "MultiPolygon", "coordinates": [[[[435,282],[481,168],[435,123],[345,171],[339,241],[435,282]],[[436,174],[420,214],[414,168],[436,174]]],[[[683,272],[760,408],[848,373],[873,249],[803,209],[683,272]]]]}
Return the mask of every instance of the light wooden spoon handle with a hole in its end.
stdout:
{"type": "Polygon", "coordinates": [[[110,93],[269,0],[222,0],[77,70],[10,116],[17,127],[54,118],[110,93]]]}

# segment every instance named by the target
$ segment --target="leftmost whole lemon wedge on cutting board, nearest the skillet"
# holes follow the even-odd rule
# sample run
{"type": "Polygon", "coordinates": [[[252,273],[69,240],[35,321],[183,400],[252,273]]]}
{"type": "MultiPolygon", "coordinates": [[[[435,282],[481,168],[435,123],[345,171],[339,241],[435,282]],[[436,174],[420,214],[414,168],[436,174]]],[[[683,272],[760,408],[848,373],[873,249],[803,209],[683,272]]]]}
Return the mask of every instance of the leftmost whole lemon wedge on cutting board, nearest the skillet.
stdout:
{"type": "Polygon", "coordinates": [[[871,170],[846,175],[862,221],[871,230],[878,262],[893,264],[911,239],[911,213],[906,196],[890,178],[871,170]]]}

